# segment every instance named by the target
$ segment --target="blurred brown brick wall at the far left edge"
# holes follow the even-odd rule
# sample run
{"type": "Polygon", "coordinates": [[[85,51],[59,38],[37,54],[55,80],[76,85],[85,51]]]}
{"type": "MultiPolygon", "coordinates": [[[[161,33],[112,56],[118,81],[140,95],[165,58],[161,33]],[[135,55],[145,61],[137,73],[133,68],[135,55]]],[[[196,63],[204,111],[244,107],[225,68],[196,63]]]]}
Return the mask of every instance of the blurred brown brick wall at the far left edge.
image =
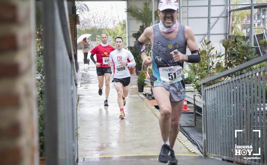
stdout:
{"type": "Polygon", "coordinates": [[[0,164],[38,164],[34,3],[0,0],[0,164]]]}

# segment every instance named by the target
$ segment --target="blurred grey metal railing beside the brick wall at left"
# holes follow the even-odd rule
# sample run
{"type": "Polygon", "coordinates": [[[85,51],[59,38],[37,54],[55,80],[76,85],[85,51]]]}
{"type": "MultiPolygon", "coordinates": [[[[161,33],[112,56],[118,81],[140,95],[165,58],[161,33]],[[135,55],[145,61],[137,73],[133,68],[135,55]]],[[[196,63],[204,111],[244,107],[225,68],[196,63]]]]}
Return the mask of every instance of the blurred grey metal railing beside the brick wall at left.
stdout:
{"type": "Polygon", "coordinates": [[[78,157],[76,70],[67,1],[43,1],[46,70],[46,164],[75,164],[78,157]]]}

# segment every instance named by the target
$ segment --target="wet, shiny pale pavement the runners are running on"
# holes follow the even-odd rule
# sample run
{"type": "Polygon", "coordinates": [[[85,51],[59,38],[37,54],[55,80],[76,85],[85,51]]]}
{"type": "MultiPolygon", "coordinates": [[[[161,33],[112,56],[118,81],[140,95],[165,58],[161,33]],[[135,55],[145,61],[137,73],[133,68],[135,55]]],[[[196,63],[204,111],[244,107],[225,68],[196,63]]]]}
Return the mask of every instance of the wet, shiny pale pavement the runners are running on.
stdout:
{"type": "MultiPolygon", "coordinates": [[[[84,67],[80,62],[77,73],[79,165],[87,164],[88,161],[93,164],[95,161],[104,163],[104,161],[109,161],[106,158],[115,159],[113,164],[119,160],[135,164],[134,158],[140,161],[136,162],[137,164],[143,164],[142,160],[146,162],[144,164],[148,164],[148,162],[151,162],[149,164],[161,164],[157,162],[157,155],[161,149],[162,138],[158,117],[151,109],[155,110],[157,114],[160,113],[154,106],[151,106],[150,109],[144,104],[142,100],[146,100],[146,98],[142,93],[138,93],[137,76],[132,74],[131,77],[129,95],[124,107],[125,119],[119,119],[117,92],[111,82],[113,75],[110,80],[109,106],[105,107],[105,85],[103,95],[99,96],[95,64],[90,61],[89,67],[84,67]]],[[[145,87],[144,93],[149,91],[150,88],[145,87]]],[[[178,136],[184,141],[184,144],[195,151],[194,153],[190,152],[184,144],[176,140],[174,151],[178,160],[187,159],[190,162],[191,159],[200,158],[201,153],[190,141],[182,133],[179,133],[178,136]]]]}

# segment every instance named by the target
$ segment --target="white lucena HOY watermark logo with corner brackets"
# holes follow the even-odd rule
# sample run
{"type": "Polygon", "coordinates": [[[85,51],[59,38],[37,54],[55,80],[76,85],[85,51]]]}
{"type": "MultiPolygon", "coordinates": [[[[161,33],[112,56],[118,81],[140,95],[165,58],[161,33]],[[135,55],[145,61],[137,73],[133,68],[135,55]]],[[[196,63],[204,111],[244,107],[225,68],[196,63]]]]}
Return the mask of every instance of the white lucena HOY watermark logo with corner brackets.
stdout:
{"type": "MultiPolygon", "coordinates": [[[[235,130],[235,138],[237,137],[237,132],[243,132],[243,130],[235,130]]],[[[260,130],[253,130],[253,132],[259,132],[259,138],[260,138],[260,130]]],[[[243,156],[260,155],[260,147],[258,151],[259,153],[253,154],[252,146],[237,146],[235,144],[235,155],[243,155],[243,156]]],[[[260,157],[244,157],[244,159],[260,159],[260,157]]]]}

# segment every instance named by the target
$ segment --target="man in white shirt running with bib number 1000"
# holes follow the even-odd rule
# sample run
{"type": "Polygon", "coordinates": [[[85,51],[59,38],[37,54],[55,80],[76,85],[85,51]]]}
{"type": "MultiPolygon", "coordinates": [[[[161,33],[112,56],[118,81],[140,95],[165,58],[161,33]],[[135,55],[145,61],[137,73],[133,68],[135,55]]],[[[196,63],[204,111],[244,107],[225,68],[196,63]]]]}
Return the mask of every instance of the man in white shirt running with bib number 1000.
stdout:
{"type": "Polygon", "coordinates": [[[119,116],[120,119],[125,117],[123,106],[126,104],[125,98],[128,96],[129,86],[131,81],[131,74],[128,67],[135,66],[134,56],[132,53],[124,48],[122,37],[115,38],[116,50],[110,52],[110,61],[108,62],[111,66],[114,62],[114,86],[118,94],[118,104],[121,111],[119,116]],[[128,59],[130,62],[127,62],[128,59]]]}

